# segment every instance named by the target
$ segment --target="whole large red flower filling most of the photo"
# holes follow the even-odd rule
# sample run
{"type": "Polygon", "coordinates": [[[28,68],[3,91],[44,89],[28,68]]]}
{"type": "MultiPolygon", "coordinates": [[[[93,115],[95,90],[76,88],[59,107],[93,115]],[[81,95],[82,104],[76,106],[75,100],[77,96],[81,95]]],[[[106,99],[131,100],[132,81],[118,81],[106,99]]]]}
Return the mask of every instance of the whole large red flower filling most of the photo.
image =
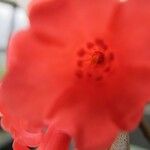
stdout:
{"type": "Polygon", "coordinates": [[[150,99],[149,0],[35,0],[1,85],[14,149],[105,150],[150,99]]]}

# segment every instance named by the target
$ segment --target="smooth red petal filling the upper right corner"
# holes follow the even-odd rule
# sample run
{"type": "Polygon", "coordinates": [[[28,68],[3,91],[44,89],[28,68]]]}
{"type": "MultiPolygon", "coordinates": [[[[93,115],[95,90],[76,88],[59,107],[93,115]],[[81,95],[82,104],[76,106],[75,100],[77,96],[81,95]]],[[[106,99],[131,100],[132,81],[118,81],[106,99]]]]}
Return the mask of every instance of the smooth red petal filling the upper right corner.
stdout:
{"type": "Polygon", "coordinates": [[[116,9],[109,36],[119,61],[129,65],[149,64],[149,5],[148,0],[128,0],[116,9]]]}

